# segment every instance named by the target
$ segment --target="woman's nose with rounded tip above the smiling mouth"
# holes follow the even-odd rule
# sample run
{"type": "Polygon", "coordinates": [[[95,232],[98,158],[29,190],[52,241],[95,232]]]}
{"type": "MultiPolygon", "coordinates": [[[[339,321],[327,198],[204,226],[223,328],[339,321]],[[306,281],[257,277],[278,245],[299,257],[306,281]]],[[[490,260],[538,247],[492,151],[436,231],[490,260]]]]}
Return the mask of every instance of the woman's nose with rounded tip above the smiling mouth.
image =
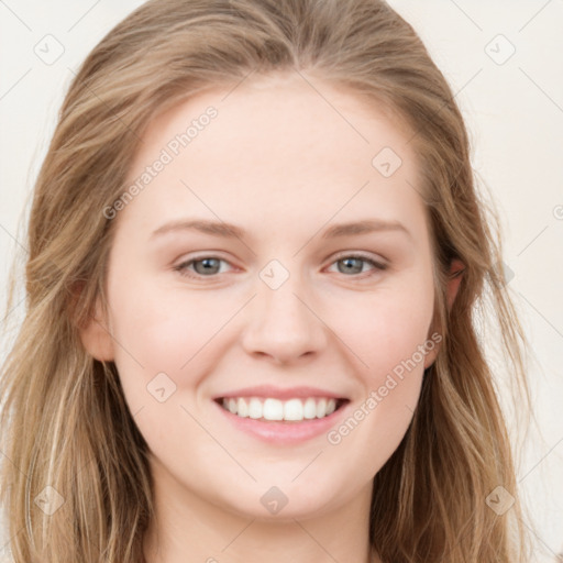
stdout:
{"type": "Polygon", "coordinates": [[[258,279],[257,295],[246,308],[249,321],[242,339],[249,354],[292,364],[314,357],[327,345],[329,329],[297,277],[290,276],[277,289],[258,279]]]}

